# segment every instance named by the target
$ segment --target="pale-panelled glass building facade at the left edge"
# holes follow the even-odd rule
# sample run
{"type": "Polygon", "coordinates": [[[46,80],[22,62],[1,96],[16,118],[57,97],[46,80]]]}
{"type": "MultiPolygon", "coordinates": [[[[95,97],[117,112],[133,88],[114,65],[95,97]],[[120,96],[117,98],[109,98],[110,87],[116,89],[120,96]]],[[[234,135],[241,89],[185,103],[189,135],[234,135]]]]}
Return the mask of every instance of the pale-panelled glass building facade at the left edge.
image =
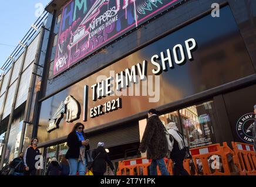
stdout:
{"type": "Polygon", "coordinates": [[[43,53],[46,48],[42,44],[46,44],[49,36],[46,30],[47,18],[48,13],[43,12],[1,68],[0,168],[30,144],[36,95],[41,86],[45,64],[43,53]]]}

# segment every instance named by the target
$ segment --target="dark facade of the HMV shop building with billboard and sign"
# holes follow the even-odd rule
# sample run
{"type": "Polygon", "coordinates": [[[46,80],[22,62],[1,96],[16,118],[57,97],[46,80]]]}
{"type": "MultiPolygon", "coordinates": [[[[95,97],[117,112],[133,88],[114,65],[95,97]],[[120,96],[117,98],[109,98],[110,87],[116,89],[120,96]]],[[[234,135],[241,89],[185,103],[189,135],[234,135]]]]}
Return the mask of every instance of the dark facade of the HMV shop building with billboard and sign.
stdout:
{"type": "Polygon", "coordinates": [[[75,123],[110,159],[141,157],[147,111],[176,122],[191,148],[252,144],[256,2],[59,1],[52,16],[33,136],[43,170],[75,123]]]}

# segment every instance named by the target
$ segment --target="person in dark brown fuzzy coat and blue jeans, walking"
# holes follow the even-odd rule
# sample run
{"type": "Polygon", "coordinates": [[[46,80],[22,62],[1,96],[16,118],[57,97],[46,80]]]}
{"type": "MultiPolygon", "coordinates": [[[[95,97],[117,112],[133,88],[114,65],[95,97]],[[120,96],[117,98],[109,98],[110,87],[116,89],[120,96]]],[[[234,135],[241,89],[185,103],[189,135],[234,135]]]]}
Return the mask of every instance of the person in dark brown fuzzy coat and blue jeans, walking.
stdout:
{"type": "Polygon", "coordinates": [[[164,163],[164,157],[167,155],[168,144],[166,140],[165,127],[156,109],[150,109],[147,113],[149,119],[144,131],[139,151],[142,153],[147,151],[147,159],[152,159],[150,164],[150,175],[157,175],[157,165],[159,166],[161,175],[169,175],[164,163]]]}

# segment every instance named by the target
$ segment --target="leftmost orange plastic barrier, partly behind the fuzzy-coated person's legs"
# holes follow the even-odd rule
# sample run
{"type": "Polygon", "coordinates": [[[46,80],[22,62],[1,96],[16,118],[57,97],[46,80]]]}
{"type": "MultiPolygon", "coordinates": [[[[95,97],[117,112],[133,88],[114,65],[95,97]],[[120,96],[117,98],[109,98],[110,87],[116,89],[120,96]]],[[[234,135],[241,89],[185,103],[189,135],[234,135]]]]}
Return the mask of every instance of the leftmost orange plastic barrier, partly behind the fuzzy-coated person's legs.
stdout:
{"type": "MultiPolygon", "coordinates": [[[[167,168],[172,171],[171,160],[165,158],[164,161],[167,164],[167,168]]],[[[132,160],[119,161],[119,166],[116,175],[149,175],[149,166],[151,160],[147,158],[136,158],[132,160]]],[[[159,168],[157,167],[157,174],[161,175],[159,168]]]]}

